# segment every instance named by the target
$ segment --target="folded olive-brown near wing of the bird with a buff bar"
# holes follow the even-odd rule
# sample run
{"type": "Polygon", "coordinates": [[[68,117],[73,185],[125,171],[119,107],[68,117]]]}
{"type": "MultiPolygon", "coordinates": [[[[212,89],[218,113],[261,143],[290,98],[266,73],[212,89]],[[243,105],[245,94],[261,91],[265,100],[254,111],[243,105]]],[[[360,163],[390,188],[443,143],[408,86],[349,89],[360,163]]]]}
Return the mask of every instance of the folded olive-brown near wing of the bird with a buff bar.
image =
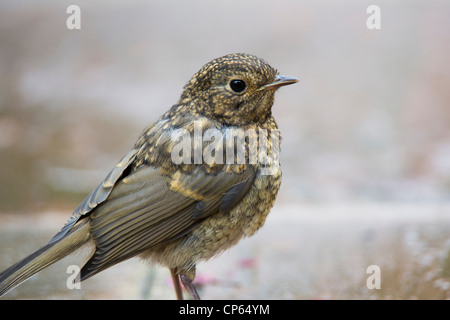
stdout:
{"type": "MultiPolygon", "coordinates": [[[[202,219],[231,210],[249,191],[256,171],[191,173],[142,166],[117,181],[92,210],[90,235],[96,250],[81,270],[84,280],[152,246],[176,239],[202,219]]],[[[95,202],[95,201],[94,201],[95,202]]]]}

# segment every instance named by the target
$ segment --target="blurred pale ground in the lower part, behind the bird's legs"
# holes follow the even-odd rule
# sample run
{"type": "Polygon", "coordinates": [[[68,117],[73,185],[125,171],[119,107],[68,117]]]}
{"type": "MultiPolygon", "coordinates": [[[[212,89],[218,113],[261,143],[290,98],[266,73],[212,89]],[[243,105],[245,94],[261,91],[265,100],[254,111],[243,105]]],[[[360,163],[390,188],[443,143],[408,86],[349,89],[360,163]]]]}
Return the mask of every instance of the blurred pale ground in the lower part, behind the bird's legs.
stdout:
{"type": "MultiPolygon", "coordinates": [[[[49,239],[61,213],[8,216],[0,268],[49,239]],[[29,229],[33,225],[34,231],[29,229]],[[14,247],[12,247],[12,245],[14,247]],[[13,250],[12,250],[13,249],[13,250]]],[[[203,299],[449,299],[450,207],[439,204],[278,205],[256,236],[211,261],[197,277],[203,299]],[[366,286],[378,265],[381,289],[366,286]]],[[[137,259],[66,286],[71,256],[3,299],[174,299],[169,271],[137,259]]]]}

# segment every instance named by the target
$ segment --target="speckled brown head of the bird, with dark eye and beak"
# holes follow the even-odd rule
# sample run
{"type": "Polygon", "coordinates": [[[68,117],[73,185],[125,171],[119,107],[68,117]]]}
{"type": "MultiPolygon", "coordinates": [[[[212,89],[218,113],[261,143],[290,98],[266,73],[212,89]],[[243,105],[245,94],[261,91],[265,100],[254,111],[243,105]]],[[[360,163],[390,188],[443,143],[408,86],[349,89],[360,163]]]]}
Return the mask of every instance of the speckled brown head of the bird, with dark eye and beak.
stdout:
{"type": "Polygon", "coordinates": [[[229,54],[205,64],[184,87],[180,103],[227,125],[263,122],[271,116],[275,91],[296,82],[254,55],[229,54]]]}

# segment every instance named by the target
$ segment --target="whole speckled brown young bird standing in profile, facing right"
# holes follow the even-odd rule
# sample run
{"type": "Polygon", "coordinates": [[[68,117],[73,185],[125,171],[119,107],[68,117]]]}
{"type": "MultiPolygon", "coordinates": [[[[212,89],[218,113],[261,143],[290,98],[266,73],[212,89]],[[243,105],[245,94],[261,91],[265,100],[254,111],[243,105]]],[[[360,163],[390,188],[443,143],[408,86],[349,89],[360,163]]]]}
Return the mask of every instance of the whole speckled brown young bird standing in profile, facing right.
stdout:
{"type": "Polygon", "coordinates": [[[178,298],[179,280],[199,298],[196,263],[253,235],[274,204],[281,168],[271,108],[275,90],[297,81],[249,54],[207,63],[50,242],[0,273],[0,295],[90,243],[81,280],[140,256],[171,270],[178,298]]]}

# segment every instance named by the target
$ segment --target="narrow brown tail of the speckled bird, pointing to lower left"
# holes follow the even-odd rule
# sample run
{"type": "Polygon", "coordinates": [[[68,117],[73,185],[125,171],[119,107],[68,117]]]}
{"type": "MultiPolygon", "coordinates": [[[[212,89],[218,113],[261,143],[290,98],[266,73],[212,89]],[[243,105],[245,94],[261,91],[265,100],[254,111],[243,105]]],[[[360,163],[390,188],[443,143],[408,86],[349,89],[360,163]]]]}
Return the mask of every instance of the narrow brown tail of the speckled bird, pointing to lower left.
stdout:
{"type": "Polygon", "coordinates": [[[88,219],[84,219],[64,237],[51,240],[45,246],[33,252],[0,273],[0,296],[3,296],[42,269],[64,258],[89,240],[88,219]]]}

